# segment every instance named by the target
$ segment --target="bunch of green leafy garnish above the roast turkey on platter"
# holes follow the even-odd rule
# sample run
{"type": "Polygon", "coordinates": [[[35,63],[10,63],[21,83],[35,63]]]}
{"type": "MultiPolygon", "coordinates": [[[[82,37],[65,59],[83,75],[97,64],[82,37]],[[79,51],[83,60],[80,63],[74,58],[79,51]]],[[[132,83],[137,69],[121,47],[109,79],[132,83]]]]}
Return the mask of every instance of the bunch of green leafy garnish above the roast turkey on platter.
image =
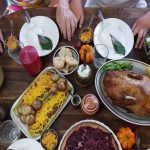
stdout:
{"type": "Polygon", "coordinates": [[[113,61],[109,64],[104,65],[103,70],[104,71],[109,71],[109,70],[123,71],[123,70],[131,70],[132,68],[133,66],[131,63],[128,63],[128,62],[118,63],[116,61],[113,61]]]}

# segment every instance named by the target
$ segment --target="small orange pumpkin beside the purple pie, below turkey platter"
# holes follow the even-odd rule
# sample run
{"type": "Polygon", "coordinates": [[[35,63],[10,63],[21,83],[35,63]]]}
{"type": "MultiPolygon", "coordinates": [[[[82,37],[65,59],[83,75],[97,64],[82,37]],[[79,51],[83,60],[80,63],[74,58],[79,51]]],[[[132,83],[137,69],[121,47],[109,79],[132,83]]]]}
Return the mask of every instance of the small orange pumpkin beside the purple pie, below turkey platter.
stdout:
{"type": "Polygon", "coordinates": [[[123,149],[130,149],[136,143],[135,133],[129,127],[121,127],[117,137],[123,149]]]}

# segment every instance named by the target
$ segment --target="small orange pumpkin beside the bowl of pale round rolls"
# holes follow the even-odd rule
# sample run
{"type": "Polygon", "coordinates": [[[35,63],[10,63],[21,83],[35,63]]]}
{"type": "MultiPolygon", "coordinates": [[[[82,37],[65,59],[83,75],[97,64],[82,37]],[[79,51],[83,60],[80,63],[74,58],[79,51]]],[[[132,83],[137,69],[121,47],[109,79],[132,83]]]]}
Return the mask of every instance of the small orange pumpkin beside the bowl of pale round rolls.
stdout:
{"type": "Polygon", "coordinates": [[[81,61],[90,63],[93,60],[92,46],[89,44],[82,45],[79,50],[79,55],[81,61]]]}

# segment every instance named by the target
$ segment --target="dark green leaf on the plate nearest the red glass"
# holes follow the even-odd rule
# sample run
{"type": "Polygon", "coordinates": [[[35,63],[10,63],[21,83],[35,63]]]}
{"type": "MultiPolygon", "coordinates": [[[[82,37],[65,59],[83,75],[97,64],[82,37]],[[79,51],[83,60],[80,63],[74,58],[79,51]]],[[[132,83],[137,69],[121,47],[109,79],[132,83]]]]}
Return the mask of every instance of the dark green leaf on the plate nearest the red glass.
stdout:
{"type": "Polygon", "coordinates": [[[53,48],[52,40],[49,37],[38,34],[38,40],[42,50],[51,50],[53,48]]]}

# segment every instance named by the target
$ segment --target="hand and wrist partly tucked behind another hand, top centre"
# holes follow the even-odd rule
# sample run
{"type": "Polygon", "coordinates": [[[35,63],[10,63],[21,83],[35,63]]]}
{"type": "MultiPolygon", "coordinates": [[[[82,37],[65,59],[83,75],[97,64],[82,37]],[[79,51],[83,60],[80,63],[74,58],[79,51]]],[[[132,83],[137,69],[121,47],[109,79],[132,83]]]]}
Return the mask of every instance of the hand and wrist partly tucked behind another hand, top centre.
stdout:
{"type": "Polygon", "coordinates": [[[84,12],[83,12],[83,8],[82,8],[82,1],[81,0],[72,0],[72,2],[70,3],[70,9],[75,14],[77,21],[79,23],[79,28],[81,28],[83,21],[84,21],[84,12]]]}

